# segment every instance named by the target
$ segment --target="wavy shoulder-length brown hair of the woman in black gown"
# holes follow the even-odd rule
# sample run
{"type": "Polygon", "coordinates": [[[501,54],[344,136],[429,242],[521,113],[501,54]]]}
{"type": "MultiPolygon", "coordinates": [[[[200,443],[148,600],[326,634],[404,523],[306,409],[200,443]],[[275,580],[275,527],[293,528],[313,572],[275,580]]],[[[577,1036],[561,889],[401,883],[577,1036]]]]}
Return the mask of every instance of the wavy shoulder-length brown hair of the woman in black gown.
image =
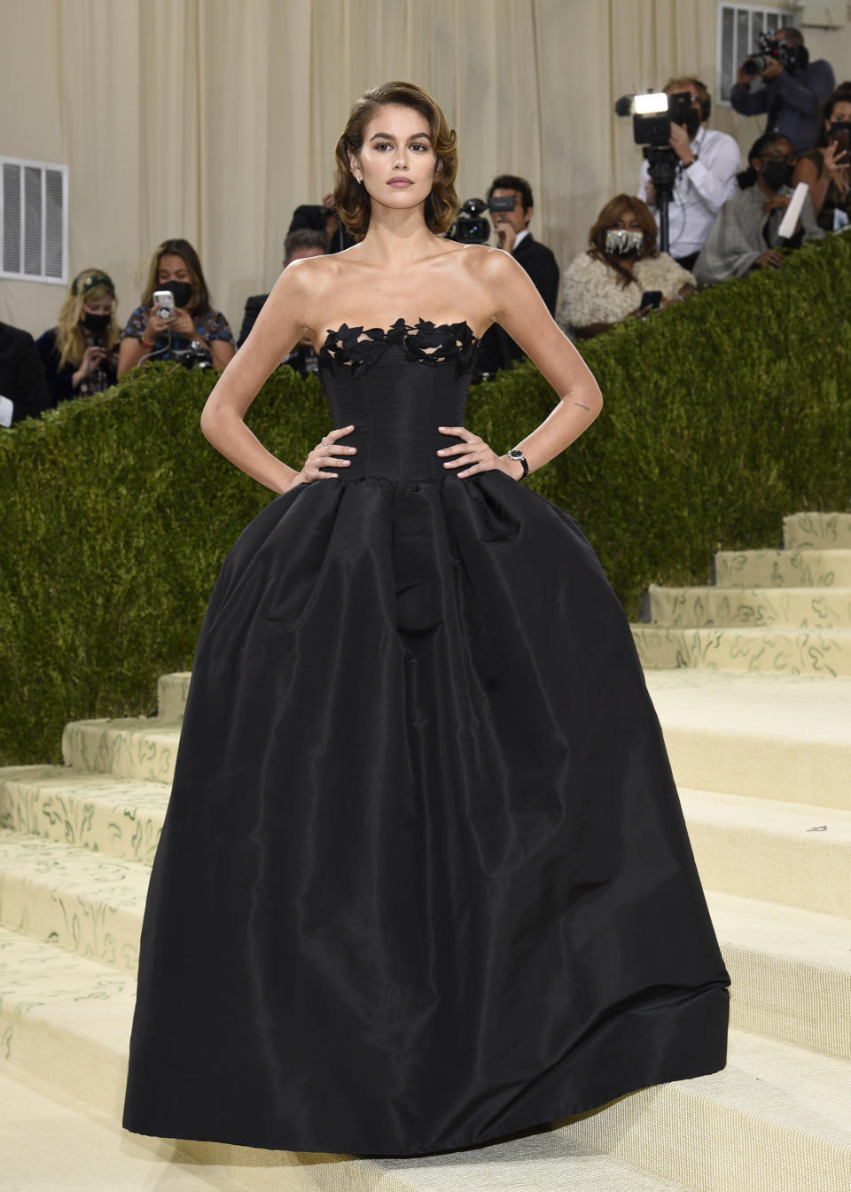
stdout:
{"type": "Polygon", "coordinates": [[[385,104],[412,107],[428,120],[431,144],[437,154],[437,173],[423,213],[429,231],[442,235],[448,231],[458,211],[458,135],[447,124],[436,101],[414,82],[385,82],[380,87],[371,87],[356,100],[335,150],[334,203],[337,215],[353,236],[366,235],[372,199],[366,187],[355,181],[349,154],[360,151],[367,124],[385,104]]]}

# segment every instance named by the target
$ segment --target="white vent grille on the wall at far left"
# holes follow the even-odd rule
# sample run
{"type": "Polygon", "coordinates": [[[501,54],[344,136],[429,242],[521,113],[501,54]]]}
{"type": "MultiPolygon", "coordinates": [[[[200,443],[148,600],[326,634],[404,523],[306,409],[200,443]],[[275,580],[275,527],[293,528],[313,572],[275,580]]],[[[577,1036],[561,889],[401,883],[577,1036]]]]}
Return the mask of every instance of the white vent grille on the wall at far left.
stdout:
{"type": "Polygon", "coordinates": [[[0,278],[68,284],[68,167],[0,157],[0,278]]]}

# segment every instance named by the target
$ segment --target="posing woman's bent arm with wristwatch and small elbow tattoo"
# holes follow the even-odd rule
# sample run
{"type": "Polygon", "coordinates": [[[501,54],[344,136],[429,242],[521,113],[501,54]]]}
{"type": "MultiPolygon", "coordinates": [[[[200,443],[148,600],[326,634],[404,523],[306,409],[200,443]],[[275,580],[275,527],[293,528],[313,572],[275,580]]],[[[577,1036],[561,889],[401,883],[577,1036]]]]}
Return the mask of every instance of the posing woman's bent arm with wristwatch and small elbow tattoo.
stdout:
{"type": "MultiPolygon", "coordinates": [[[[535,472],[591,426],[603,408],[603,397],[585,361],[551,316],[526,269],[508,253],[493,252],[483,261],[483,273],[487,292],[495,296],[495,321],[523,349],[559,396],[558,404],[543,422],[521,442],[513,445],[522,449],[529,472],[535,472]]],[[[456,434],[465,428],[443,429],[456,434]]],[[[453,467],[455,464],[467,465],[456,472],[459,477],[493,467],[515,479],[522,477],[522,464],[508,455],[496,455],[486,443],[482,443],[486,452],[484,455],[480,451],[466,451],[477,436],[466,429],[465,434],[467,442],[442,449],[442,454],[449,457],[464,453],[460,460],[453,460],[453,467]]]]}

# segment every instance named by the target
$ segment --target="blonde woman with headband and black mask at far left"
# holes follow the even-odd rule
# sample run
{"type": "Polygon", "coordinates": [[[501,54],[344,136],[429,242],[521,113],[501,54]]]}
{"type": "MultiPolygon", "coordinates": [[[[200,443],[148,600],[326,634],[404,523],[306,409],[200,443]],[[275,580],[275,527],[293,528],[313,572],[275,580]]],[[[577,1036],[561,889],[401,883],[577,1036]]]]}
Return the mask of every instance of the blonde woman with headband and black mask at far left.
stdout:
{"type": "Polygon", "coordinates": [[[57,325],[36,341],[52,405],[116,384],[116,287],[103,269],[83,269],[72,281],[57,325]]]}

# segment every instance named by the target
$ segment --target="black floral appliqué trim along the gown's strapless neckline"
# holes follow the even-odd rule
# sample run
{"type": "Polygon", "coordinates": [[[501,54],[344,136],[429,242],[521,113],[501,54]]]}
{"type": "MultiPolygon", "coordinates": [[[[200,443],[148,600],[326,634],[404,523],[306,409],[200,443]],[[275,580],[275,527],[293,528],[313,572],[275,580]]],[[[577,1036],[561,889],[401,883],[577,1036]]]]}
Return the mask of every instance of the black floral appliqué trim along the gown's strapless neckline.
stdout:
{"type": "Polygon", "coordinates": [[[338,330],[328,331],[319,348],[319,365],[331,373],[349,368],[352,377],[360,377],[393,344],[402,348],[406,360],[431,367],[452,361],[460,374],[472,367],[479,341],[464,321],[429,323],[421,318],[411,324],[397,318],[387,330],[343,323],[338,330]]]}

